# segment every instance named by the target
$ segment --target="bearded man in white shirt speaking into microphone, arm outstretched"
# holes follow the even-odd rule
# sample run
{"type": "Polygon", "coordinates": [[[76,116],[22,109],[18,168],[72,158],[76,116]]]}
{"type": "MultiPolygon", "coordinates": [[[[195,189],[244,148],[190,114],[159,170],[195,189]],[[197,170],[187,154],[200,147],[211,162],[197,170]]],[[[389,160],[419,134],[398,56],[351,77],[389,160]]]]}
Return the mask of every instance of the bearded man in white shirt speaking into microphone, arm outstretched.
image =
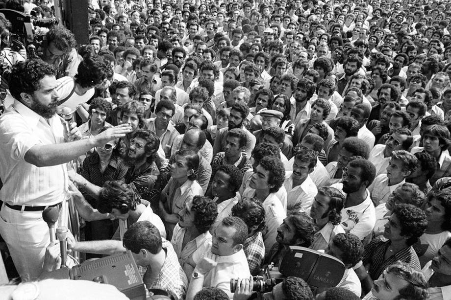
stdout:
{"type": "Polygon", "coordinates": [[[41,60],[17,63],[10,86],[14,104],[0,116],[0,234],[19,275],[29,279],[41,274],[50,242],[42,212],[59,207],[67,196],[66,162],[131,130],[124,124],[77,140],[81,134],[73,123],[67,133],[55,114],[55,75],[55,68],[41,60]]]}

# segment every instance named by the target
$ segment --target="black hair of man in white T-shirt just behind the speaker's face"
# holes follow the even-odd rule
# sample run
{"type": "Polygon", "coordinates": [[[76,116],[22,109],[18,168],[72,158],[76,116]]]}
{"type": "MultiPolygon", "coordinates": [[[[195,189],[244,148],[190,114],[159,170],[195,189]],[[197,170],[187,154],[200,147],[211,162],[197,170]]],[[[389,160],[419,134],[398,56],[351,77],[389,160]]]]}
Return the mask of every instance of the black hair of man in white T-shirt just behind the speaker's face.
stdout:
{"type": "Polygon", "coordinates": [[[82,88],[93,88],[102,83],[109,69],[110,66],[103,57],[93,57],[89,54],[85,55],[78,65],[77,73],[75,74],[75,83],[79,84],[82,88]]]}

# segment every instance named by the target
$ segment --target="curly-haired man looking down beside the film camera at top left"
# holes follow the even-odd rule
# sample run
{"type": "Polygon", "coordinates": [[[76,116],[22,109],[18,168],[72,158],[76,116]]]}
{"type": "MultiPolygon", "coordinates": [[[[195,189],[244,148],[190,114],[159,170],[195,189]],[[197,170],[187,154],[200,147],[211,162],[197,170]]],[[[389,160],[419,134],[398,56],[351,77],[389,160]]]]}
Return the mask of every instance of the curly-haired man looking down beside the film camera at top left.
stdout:
{"type": "Polygon", "coordinates": [[[63,26],[53,26],[46,35],[47,45],[42,49],[42,60],[57,69],[56,78],[74,77],[81,57],[75,46],[74,34],[63,26]]]}

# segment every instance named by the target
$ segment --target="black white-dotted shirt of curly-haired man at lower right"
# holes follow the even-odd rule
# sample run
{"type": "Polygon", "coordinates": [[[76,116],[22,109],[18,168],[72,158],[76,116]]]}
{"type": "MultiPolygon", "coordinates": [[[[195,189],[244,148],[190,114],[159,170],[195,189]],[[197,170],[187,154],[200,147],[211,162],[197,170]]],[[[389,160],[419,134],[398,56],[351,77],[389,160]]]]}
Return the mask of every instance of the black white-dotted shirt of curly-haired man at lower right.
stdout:
{"type": "Polygon", "coordinates": [[[382,235],[379,235],[367,246],[365,246],[362,261],[364,265],[370,264],[368,273],[373,280],[379,278],[388,266],[394,264],[398,260],[410,264],[411,267],[417,270],[421,270],[420,261],[418,260],[418,256],[412,246],[408,246],[401,251],[398,251],[385,260],[384,256],[390,244],[390,240],[387,240],[382,235]]]}

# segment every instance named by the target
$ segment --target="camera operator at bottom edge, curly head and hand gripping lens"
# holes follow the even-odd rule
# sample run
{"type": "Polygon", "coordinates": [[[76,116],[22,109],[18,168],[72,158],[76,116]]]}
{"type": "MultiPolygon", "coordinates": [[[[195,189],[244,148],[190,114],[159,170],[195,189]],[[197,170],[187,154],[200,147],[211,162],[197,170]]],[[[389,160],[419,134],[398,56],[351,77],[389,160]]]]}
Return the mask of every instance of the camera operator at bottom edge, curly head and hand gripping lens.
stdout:
{"type": "Polygon", "coordinates": [[[233,300],[265,299],[265,300],[313,300],[308,284],[299,277],[290,276],[277,283],[268,293],[253,291],[253,278],[238,279],[233,300]]]}

